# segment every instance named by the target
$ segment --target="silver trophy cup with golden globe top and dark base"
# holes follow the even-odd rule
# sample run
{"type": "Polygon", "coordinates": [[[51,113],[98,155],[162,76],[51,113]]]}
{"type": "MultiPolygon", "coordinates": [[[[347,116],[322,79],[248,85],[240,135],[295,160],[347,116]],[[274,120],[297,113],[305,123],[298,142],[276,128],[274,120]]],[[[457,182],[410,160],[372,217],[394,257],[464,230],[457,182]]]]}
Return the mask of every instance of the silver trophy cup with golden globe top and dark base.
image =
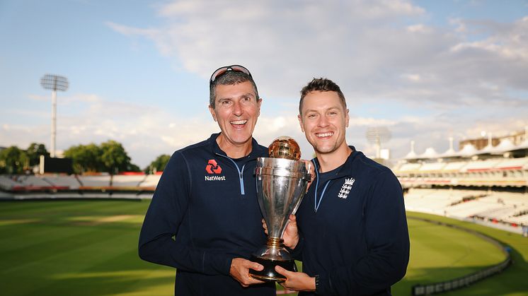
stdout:
{"type": "Polygon", "coordinates": [[[293,138],[280,136],[268,150],[270,158],[258,158],[255,169],[258,205],[268,225],[268,242],[251,256],[251,261],[263,265],[264,269],[250,269],[249,273],[258,280],[282,283],[286,277],[277,273],[275,266],[297,271],[282,235],[289,215],[299,208],[311,176],[306,163],[299,160],[301,150],[293,138]]]}

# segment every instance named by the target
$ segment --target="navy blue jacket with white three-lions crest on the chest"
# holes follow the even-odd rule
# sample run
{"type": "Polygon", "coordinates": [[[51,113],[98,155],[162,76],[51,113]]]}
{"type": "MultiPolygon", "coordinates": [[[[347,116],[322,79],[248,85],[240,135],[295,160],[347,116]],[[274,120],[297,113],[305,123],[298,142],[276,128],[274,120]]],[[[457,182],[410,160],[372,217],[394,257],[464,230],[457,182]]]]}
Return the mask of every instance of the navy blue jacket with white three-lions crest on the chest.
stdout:
{"type": "Polygon", "coordinates": [[[319,276],[316,293],[299,295],[391,295],[391,285],[405,276],[409,235],[401,185],[389,168],[350,148],[335,176],[326,184],[314,180],[297,211],[301,239],[294,254],[304,273],[319,276]],[[317,212],[316,188],[323,199],[317,212]]]}

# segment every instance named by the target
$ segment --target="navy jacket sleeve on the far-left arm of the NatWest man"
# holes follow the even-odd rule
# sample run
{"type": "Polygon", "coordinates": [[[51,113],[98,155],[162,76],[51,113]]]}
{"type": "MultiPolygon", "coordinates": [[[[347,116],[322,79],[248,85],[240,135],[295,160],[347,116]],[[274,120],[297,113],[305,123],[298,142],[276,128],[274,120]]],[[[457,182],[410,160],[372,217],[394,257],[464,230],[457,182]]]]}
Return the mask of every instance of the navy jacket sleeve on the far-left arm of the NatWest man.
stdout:
{"type": "Polygon", "coordinates": [[[155,264],[204,274],[229,275],[231,256],[212,254],[178,240],[190,199],[190,170],[182,153],[168,161],[139,234],[139,257],[155,264]]]}

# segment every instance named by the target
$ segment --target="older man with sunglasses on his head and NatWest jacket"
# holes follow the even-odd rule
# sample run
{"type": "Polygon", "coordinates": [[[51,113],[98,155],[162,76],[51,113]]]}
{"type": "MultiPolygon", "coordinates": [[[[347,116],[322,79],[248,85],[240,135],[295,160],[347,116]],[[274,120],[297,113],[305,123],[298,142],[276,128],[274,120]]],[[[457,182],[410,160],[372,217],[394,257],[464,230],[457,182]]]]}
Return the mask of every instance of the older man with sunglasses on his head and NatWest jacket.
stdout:
{"type": "Polygon", "coordinates": [[[177,150],[163,170],[139,236],[139,256],[177,268],[176,295],[275,295],[249,276],[265,244],[253,171],[267,148],[252,138],[262,100],[243,66],[217,69],[209,109],[221,132],[177,150]]]}

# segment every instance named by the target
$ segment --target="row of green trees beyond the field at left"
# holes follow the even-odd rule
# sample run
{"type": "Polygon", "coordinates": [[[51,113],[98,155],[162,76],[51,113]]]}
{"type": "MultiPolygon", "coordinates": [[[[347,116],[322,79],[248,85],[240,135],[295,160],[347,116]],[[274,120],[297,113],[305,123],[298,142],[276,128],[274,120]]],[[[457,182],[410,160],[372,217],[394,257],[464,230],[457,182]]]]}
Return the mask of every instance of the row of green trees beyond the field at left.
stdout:
{"type": "MultiPolygon", "coordinates": [[[[27,149],[11,146],[0,151],[0,173],[22,174],[32,172],[33,167],[40,163],[40,155],[50,156],[46,146],[42,143],[31,143],[27,149]]],[[[86,172],[108,172],[118,174],[120,172],[141,172],[142,170],[131,162],[127,151],[121,143],[109,140],[101,145],[90,143],[79,144],[64,150],[64,157],[71,158],[73,170],[76,174],[86,172]]],[[[170,155],[162,154],[156,157],[144,172],[153,173],[162,171],[171,158],[170,155]]]]}

